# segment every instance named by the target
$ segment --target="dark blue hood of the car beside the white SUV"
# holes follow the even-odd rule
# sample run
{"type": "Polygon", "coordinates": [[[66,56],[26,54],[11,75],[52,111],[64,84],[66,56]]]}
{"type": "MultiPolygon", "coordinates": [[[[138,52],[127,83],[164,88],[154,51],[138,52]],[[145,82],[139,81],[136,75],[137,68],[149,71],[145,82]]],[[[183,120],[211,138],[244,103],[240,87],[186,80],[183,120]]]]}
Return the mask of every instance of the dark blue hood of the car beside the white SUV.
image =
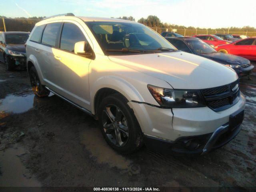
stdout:
{"type": "Polygon", "coordinates": [[[250,62],[246,58],[242,58],[240,56],[236,56],[236,55],[232,55],[232,54],[224,54],[224,53],[220,53],[220,52],[199,54],[199,56],[214,60],[214,61],[222,63],[222,64],[244,65],[244,64],[248,64],[250,62]]]}

